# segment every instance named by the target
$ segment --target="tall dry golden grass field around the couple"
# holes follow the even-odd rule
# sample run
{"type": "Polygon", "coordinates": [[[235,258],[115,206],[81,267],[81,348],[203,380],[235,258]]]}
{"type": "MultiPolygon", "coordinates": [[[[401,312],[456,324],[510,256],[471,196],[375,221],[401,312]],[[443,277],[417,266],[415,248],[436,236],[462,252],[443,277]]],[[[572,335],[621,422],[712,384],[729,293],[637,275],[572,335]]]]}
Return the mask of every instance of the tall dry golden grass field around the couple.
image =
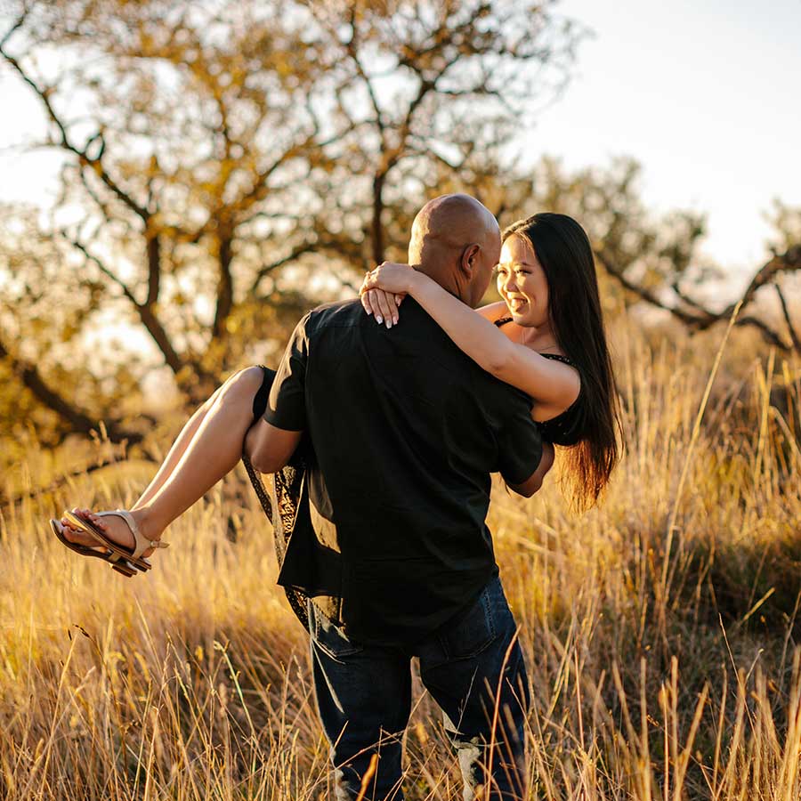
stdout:
{"type": "MultiPolygon", "coordinates": [[[[494,493],[535,700],[530,797],[792,801],[801,365],[737,331],[718,367],[722,329],[618,338],[627,452],[601,506],[570,514],[556,481],[530,500],[494,493]]],[[[166,448],[175,431],[154,436],[166,448]]],[[[4,489],[108,447],[32,444],[4,489]]],[[[244,472],[174,524],[148,576],[50,535],[61,508],[129,504],[152,472],[111,465],[3,507],[0,797],[328,798],[306,636],[244,472]]],[[[419,684],[405,752],[407,797],[461,797],[419,684]]]]}

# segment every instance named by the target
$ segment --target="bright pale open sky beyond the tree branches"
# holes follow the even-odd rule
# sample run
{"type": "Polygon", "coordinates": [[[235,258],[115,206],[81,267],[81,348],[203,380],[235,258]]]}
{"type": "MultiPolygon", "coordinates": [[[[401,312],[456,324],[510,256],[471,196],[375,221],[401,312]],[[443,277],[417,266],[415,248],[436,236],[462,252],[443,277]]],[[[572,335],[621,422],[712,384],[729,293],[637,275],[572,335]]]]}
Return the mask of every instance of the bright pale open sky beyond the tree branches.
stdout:
{"type": "MultiPolygon", "coordinates": [[[[591,28],[562,98],[522,134],[565,166],[629,155],[655,212],[708,214],[706,255],[738,277],[765,260],[773,198],[801,206],[801,0],[562,0],[591,28]]],[[[0,97],[0,202],[44,204],[58,157],[9,150],[44,131],[36,101],[8,69],[0,97]]]]}

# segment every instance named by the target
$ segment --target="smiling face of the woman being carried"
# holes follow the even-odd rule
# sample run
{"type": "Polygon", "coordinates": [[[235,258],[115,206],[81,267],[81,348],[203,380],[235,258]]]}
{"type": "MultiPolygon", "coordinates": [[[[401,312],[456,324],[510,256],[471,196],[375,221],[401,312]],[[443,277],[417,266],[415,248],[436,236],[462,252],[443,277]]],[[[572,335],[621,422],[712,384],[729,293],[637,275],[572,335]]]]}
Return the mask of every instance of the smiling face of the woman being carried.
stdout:
{"type": "Polygon", "coordinates": [[[498,292],[519,326],[539,328],[548,321],[548,282],[534,248],[511,236],[501,247],[498,292]]]}

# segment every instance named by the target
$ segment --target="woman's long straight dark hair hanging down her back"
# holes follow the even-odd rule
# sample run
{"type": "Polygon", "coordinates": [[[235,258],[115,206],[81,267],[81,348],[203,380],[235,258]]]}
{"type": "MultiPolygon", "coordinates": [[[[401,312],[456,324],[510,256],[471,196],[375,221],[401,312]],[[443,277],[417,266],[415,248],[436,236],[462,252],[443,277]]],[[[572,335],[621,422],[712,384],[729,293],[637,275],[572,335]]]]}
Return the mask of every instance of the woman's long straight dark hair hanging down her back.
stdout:
{"type": "Polygon", "coordinates": [[[534,248],[548,282],[548,313],[556,341],[581,376],[582,439],[567,450],[572,497],[595,505],[619,460],[620,415],[593,249],[567,214],[543,212],[512,223],[502,239],[521,237],[534,248]]]}

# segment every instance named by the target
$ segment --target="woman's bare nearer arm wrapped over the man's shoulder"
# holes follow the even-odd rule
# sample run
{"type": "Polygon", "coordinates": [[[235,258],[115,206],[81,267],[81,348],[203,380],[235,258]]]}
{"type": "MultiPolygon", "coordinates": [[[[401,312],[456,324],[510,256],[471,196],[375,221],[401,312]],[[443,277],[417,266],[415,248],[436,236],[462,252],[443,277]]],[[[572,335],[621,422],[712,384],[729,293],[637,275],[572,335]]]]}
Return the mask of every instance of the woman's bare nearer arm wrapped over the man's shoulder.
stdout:
{"type": "Polygon", "coordinates": [[[536,405],[554,414],[578,398],[578,372],[512,342],[481,313],[450,295],[436,281],[405,265],[384,263],[365,279],[362,290],[384,289],[414,297],[441,326],[459,350],[506,384],[530,395],[536,405]]]}

